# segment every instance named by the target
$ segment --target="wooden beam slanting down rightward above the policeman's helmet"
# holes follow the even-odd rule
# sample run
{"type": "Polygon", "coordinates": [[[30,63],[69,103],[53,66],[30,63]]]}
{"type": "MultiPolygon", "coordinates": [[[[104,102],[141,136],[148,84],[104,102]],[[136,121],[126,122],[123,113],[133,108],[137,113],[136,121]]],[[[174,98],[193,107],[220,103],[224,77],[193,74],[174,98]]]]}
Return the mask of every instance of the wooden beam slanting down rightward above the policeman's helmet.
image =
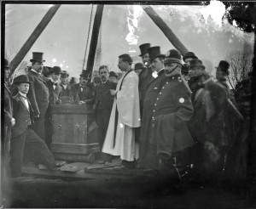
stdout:
{"type": "Polygon", "coordinates": [[[174,34],[172,29],[166,24],[164,20],[160,18],[160,15],[158,15],[154,8],[151,6],[143,6],[142,8],[144,11],[148,14],[148,16],[151,18],[151,20],[154,21],[155,25],[157,25],[161,31],[166,35],[168,40],[172,42],[172,45],[177,48],[177,50],[180,51],[180,53],[184,56],[189,50],[183,45],[183,43],[177,38],[177,36],[174,34]]]}

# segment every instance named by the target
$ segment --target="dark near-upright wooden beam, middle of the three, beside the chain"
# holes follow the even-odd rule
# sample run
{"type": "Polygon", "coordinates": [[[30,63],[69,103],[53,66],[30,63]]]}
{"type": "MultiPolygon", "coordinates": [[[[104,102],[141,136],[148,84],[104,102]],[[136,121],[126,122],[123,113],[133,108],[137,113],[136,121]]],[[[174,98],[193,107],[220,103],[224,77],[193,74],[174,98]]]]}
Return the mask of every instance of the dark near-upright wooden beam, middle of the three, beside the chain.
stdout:
{"type": "Polygon", "coordinates": [[[96,15],[93,22],[93,28],[90,38],[90,50],[87,59],[86,69],[87,71],[93,70],[94,59],[96,54],[96,48],[98,43],[99,31],[102,23],[102,13],[103,13],[104,4],[98,4],[96,8],[96,15]]]}

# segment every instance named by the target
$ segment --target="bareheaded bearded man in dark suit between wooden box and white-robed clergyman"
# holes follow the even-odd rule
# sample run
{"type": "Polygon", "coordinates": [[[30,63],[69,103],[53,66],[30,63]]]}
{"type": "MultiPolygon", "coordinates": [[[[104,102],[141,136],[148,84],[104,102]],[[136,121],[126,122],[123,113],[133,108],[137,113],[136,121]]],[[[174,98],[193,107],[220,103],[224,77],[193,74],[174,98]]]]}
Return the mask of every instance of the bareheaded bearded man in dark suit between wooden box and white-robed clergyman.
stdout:
{"type": "Polygon", "coordinates": [[[102,84],[96,87],[96,123],[98,125],[99,144],[102,150],[102,145],[108,130],[108,122],[113,106],[113,95],[110,94],[110,89],[115,90],[116,83],[108,80],[108,66],[102,65],[99,68],[99,76],[102,84]]]}

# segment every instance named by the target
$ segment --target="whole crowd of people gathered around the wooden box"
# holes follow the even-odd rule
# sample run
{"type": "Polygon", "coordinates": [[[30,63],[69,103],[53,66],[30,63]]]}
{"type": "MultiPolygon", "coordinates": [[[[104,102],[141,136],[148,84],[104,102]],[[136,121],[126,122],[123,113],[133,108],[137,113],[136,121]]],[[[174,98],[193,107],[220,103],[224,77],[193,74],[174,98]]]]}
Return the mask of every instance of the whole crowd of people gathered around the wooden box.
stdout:
{"type": "MultiPolygon", "coordinates": [[[[177,181],[191,171],[204,181],[241,178],[252,140],[243,122],[250,99],[239,100],[247,82],[233,93],[225,60],[216,67],[215,82],[193,52],[182,57],[176,49],[162,54],[150,43],[139,48],[142,63],[119,55],[119,79],[102,65],[93,82],[87,69],[77,84],[59,66],[45,68],[43,53],[33,53],[27,74],[15,77],[10,89],[4,84],[4,165],[10,164],[10,175],[21,175],[27,153],[50,170],[60,167],[50,152],[51,107],[88,104],[96,112],[101,163],[118,157],[123,167],[153,169],[177,181]]],[[[7,59],[4,69],[8,75],[7,59]]]]}

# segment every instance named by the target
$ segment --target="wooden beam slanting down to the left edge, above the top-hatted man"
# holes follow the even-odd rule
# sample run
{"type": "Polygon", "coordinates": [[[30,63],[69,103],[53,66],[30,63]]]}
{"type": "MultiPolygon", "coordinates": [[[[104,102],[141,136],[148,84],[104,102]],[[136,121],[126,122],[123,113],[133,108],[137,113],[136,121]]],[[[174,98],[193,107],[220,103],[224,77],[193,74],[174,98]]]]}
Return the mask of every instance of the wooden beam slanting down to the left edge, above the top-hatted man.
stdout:
{"type": "Polygon", "coordinates": [[[20,62],[22,61],[22,59],[24,59],[26,54],[32,48],[32,45],[38,40],[38,37],[44,31],[44,28],[49,24],[49,21],[53,18],[56,11],[60,7],[61,7],[61,4],[55,4],[54,6],[49,8],[49,11],[44,15],[44,18],[40,21],[40,23],[35,28],[35,30],[32,31],[31,36],[28,37],[28,39],[26,40],[26,42],[24,43],[22,48],[20,48],[19,53],[16,54],[15,58],[10,62],[10,64],[9,64],[9,66],[10,66],[9,76],[11,76],[14,73],[15,69],[18,67],[18,65],[20,65],[20,62]]]}

